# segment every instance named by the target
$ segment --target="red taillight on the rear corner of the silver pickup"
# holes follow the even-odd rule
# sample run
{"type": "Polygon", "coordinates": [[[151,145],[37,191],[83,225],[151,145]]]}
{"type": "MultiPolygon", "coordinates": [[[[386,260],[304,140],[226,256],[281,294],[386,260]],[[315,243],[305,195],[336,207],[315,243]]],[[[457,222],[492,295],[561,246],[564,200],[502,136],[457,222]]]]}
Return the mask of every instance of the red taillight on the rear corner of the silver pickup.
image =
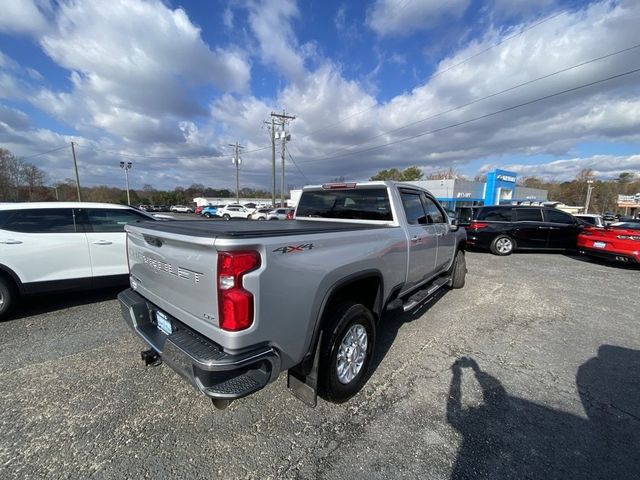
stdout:
{"type": "Polygon", "coordinates": [[[260,266],[255,251],[218,252],[218,317],[223,330],[237,332],[253,322],[253,295],[242,277],[260,266]]]}

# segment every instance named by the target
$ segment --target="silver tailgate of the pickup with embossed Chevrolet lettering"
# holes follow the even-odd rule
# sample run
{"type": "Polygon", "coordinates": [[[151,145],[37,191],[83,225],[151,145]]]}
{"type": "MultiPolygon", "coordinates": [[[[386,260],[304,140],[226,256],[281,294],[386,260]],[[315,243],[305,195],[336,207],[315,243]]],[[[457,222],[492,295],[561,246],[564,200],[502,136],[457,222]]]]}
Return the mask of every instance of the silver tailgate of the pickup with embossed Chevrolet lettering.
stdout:
{"type": "Polygon", "coordinates": [[[217,327],[215,237],[192,237],[127,226],[131,286],[200,331],[217,327]]]}

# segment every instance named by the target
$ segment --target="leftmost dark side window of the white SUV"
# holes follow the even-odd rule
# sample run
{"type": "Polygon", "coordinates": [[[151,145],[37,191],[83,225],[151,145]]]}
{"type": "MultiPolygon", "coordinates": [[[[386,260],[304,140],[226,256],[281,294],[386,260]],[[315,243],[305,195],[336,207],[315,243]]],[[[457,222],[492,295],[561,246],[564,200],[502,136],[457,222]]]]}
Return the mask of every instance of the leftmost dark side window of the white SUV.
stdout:
{"type": "Polygon", "coordinates": [[[21,233],[75,233],[76,223],[70,208],[15,210],[3,229],[21,233]]]}

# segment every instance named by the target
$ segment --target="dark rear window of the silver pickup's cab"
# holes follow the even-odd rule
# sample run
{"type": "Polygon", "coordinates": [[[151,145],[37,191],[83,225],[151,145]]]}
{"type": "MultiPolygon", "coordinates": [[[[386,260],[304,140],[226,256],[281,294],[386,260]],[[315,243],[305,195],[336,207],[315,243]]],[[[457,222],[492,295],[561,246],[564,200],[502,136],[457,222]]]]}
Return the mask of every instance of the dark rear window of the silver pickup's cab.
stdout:
{"type": "Polygon", "coordinates": [[[301,217],[393,220],[384,187],[303,192],[296,211],[301,217]]]}

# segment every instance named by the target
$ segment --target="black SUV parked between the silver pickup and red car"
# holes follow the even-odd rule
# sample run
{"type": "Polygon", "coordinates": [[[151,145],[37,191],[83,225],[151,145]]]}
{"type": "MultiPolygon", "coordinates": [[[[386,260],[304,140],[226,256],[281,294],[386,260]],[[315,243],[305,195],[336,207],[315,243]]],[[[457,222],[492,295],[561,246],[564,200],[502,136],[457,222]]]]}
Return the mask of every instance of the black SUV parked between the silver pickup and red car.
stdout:
{"type": "Polygon", "coordinates": [[[515,250],[572,250],[582,222],[551,207],[482,207],[467,228],[467,244],[495,255],[515,250]]]}

